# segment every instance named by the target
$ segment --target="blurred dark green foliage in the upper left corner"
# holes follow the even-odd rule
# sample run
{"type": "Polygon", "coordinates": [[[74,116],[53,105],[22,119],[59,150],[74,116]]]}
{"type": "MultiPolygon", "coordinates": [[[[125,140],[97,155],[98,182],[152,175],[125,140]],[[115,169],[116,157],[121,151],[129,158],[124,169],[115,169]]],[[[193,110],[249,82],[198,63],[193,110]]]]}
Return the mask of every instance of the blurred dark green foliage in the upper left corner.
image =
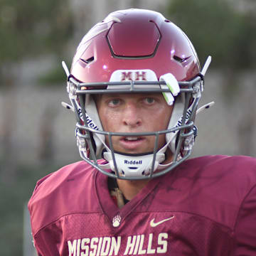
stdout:
{"type": "MultiPolygon", "coordinates": [[[[11,66],[38,55],[63,55],[73,35],[68,0],[0,1],[0,74],[11,85],[11,66]]],[[[54,71],[55,72],[55,71],[54,71]]]]}

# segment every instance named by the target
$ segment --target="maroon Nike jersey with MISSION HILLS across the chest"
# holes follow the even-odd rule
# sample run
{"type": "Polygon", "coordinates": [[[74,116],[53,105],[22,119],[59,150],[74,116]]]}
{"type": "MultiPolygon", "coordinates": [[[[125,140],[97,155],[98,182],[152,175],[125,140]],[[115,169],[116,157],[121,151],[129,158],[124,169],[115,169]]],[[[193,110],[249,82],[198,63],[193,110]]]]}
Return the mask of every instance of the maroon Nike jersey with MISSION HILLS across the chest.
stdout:
{"type": "Polygon", "coordinates": [[[38,181],[28,208],[39,255],[256,255],[256,159],[187,160],[121,209],[80,161],[38,181]]]}

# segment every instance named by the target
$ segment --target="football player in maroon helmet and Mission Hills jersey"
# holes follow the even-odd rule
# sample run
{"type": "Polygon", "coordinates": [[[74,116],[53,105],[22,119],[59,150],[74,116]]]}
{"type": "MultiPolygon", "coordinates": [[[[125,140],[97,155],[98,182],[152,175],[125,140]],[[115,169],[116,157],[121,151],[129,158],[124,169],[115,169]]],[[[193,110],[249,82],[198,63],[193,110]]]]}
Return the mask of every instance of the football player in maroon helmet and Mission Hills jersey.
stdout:
{"type": "Polygon", "coordinates": [[[155,11],[114,11],[68,75],[82,161],[38,181],[38,255],[256,255],[256,161],[191,155],[210,57],[155,11]]]}

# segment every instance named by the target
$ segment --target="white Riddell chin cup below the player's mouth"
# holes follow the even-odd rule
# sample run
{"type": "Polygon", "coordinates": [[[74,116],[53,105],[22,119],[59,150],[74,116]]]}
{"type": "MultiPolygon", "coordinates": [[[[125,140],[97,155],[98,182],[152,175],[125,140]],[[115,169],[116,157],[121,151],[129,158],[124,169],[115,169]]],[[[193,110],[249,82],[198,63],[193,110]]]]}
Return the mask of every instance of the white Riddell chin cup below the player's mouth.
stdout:
{"type": "MultiPolygon", "coordinates": [[[[125,177],[143,177],[150,174],[153,154],[147,154],[142,156],[126,156],[123,154],[114,154],[114,159],[117,164],[119,176],[125,177]]],[[[111,152],[105,152],[103,154],[105,160],[110,164],[110,169],[114,169],[114,161],[112,159],[111,152]]],[[[159,163],[164,161],[164,153],[156,153],[156,161],[154,162],[154,171],[156,171],[159,163]]]]}

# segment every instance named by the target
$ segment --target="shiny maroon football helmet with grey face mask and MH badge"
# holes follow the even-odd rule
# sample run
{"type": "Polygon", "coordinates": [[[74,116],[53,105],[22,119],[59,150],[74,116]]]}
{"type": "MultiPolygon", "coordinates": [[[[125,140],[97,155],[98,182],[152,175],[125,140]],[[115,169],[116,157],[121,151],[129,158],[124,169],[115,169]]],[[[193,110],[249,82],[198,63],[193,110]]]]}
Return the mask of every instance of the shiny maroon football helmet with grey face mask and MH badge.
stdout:
{"type": "MultiPolygon", "coordinates": [[[[208,62],[209,64],[209,62],[208,62]]],[[[196,136],[194,119],[203,90],[203,75],[196,51],[180,28],[156,11],[114,11],[82,38],[68,75],[68,93],[76,114],[80,156],[108,176],[123,179],[156,177],[188,158],[196,136]],[[174,110],[165,131],[117,133],[104,131],[95,94],[162,93],[174,110]],[[114,136],[166,134],[166,144],[149,154],[127,155],[114,151],[114,136]],[[110,145],[105,144],[105,137],[110,145]],[[161,164],[166,149],[174,155],[161,164]],[[106,164],[98,164],[104,158],[106,164]],[[124,164],[126,163],[126,164],[124,164]],[[128,163],[128,164],[127,164],[128,163]],[[109,170],[112,171],[109,171],[109,170]]]]}

